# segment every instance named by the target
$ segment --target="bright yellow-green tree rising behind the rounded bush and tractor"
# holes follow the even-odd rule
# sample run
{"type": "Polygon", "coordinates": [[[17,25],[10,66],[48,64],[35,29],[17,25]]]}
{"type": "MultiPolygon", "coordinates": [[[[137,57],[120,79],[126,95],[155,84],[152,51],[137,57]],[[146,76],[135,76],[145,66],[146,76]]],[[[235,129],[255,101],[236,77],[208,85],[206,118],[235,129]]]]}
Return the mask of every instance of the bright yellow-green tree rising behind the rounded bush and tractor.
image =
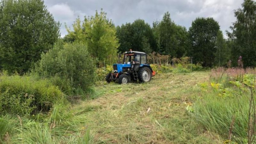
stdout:
{"type": "Polygon", "coordinates": [[[71,31],[67,28],[68,35],[64,40],[86,44],[88,52],[98,60],[98,67],[104,60],[108,64],[113,63],[119,44],[116,28],[113,22],[107,19],[107,13],[102,9],[100,13],[96,11],[94,16],[84,18],[82,26],[78,18],[73,24],[73,29],[74,31],[71,31]]]}

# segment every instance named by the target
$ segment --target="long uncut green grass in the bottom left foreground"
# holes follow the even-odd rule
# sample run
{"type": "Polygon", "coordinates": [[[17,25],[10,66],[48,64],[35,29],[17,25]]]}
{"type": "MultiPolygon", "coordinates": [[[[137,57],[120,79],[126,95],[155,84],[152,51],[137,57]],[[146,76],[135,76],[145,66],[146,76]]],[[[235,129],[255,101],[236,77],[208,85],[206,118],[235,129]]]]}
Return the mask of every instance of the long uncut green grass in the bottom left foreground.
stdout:
{"type": "MultiPolygon", "coordinates": [[[[9,119],[3,119],[4,122],[9,121],[9,119]]],[[[46,117],[41,121],[31,120],[25,117],[16,117],[16,119],[16,122],[20,119],[19,125],[16,124],[13,128],[10,128],[13,129],[13,132],[11,132],[10,135],[10,143],[13,144],[93,143],[93,136],[91,135],[89,128],[85,128],[86,126],[81,127],[81,123],[84,122],[84,117],[72,115],[72,113],[68,111],[68,107],[64,107],[61,104],[55,105],[49,112],[49,117],[46,117]]],[[[5,131],[2,133],[6,133],[5,131]]],[[[9,132],[10,130],[7,131],[9,132]]],[[[4,140],[5,137],[2,138],[4,140]]]]}

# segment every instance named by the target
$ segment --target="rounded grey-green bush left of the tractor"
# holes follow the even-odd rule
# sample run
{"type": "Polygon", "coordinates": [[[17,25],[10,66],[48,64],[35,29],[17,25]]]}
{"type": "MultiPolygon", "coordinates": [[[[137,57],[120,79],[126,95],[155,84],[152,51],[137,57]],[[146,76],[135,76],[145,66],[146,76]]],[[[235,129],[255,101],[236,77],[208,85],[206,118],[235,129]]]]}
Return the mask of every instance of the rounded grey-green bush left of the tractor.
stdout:
{"type": "Polygon", "coordinates": [[[95,63],[84,44],[59,41],[41,57],[35,71],[66,94],[73,94],[77,88],[86,90],[95,81],[95,63]]]}

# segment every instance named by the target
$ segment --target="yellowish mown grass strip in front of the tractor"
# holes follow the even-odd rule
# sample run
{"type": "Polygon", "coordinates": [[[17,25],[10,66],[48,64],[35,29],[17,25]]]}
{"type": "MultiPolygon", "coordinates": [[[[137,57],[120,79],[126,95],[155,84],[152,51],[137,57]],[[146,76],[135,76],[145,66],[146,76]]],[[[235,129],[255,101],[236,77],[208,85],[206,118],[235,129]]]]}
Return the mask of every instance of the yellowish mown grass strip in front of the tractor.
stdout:
{"type": "Polygon", "coordinates": [[[93,143],[223,143],[199,130],[186,110],[200,96],[208,72],[156,75],[150,83],[98,84],[95,99],[79,101],[71,111],[90,129],[93,143]]]}

